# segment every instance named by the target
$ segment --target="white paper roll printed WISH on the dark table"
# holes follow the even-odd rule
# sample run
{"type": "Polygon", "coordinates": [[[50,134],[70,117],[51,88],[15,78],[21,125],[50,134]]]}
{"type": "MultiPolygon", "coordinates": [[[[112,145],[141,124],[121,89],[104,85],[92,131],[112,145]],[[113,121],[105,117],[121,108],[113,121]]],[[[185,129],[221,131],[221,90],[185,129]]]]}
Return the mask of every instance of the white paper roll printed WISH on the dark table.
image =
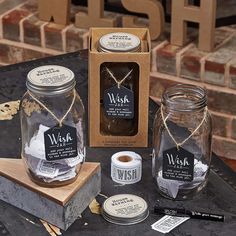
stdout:
{"type": "Polygon", "coordinates": [[[116,183],[134,184],[142,177],[142,157],[135,152],[117,152],[111,157],[111,178],[116,183]]]}

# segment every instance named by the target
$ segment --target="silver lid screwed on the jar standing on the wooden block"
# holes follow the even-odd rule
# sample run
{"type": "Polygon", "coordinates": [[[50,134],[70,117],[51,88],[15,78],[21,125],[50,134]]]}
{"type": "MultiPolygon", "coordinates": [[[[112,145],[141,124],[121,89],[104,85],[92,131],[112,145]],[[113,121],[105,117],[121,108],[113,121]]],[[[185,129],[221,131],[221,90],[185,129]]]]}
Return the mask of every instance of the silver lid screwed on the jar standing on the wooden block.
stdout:
{"type": "Polygon", "coordinates": [[[43,95],[56,95],[75,87],[74,73],[58,65],[36,67],[27,75],[26,86],[29,91],[43,95]]]}

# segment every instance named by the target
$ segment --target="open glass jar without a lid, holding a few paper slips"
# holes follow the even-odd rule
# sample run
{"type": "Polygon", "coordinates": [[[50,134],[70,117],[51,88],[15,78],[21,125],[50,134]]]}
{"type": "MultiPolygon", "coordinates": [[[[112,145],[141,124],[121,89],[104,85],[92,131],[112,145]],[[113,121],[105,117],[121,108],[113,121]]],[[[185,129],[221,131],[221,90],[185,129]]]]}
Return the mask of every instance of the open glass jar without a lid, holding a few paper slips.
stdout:
{"type": "Polygon", "coordinates": [[[153,130],[152,174],[161,195],[191,199],[206,186],[211,138],[204,89],[192,85],[168,88],[153,130]]]}

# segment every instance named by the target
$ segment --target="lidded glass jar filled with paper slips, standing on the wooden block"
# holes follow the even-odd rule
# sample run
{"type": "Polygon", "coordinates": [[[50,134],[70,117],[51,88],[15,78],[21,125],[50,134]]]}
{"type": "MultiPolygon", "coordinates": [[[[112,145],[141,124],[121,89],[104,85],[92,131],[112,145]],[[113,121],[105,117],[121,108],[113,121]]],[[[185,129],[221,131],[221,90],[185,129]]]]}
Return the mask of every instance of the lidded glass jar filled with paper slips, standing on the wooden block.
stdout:
{"type": "Polygon", "coordinates": [[[75,84],[74,73],[62,66],[40,66],[27,75],[20,106],[21,153],[39,185],[72,183],[84,162],[84,106],[75,84]]]}

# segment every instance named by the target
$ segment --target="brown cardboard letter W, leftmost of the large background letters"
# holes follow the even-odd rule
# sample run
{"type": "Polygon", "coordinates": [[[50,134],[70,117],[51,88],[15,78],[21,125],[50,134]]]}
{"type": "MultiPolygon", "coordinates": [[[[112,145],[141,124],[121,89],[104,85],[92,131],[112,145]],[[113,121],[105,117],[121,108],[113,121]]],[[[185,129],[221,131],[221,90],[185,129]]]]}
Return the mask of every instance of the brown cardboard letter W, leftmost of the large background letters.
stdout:
{"type": "Polygon", "coordinates": [[[39,18],[43,21],[53,21],[67,25],[70,17],[71,0],[38,0],[39,18]]]}

